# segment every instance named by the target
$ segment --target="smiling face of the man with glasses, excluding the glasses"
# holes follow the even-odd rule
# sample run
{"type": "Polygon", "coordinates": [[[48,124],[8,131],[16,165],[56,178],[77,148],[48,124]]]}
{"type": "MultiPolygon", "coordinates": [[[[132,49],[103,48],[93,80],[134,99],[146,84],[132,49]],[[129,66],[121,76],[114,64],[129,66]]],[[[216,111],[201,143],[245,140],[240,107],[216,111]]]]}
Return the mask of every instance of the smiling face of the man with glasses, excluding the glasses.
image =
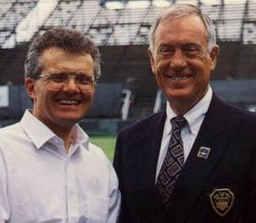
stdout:
{"type": "MultiPolygon", "coordinates": [[[[93,78],[93,58],[89,54],[68,54],[58,47],[50,47],[40,56],[41,74],[51,77],[57,73],[79,74],[93,78]]],[[[92,92],[81,92],[75,80],[70,78],[59,91],[48,89],[42,77],[25,80],[28,95],[33,99],[33,115],[52,130],[70,128],[92,106],[92,92]]]]}

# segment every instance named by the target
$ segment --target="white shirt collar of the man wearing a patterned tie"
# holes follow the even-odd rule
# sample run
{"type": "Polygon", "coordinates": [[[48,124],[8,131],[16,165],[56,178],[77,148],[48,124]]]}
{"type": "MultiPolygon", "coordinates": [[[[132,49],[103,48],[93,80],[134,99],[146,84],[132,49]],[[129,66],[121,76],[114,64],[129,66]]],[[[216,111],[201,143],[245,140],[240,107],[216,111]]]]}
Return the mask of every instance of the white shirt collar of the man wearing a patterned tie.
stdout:
{"type": "MultiPolygon", "coordinates": [[[[198,129],[201,126],[203,117],[208,111],[208,107],[210,105],[212,97],[213,90],[209,86],[207,93],[202,97],[202,99],[183,115],[188,121],[188,128],[193,135],[196,135],[198,133],[198,129]]],[[[173,112],[172,107],[170,107],[169,102],[167,102],[166,114],[168,120],[171,120],[174,116],[177,116],[175,112],[173,112]]],[[[170,121],[168,122],[170,123],[170,121]]],[[[171,124],[169,124],[169,130],[171,130],[171,124]]]]}

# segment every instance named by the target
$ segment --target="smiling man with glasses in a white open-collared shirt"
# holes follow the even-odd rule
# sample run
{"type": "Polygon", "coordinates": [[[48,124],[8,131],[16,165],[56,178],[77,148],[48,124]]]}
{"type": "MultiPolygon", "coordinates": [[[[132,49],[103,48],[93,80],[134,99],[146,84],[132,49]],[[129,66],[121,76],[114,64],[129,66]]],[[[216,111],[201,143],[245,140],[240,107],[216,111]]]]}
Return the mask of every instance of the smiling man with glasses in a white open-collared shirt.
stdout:
{"type": "Polygon", "coordinates": [[[63,28],[29,47],[33,110],[0,131],[1,223],[117,221],[113,166],[77,124],[93,103],[99,57],[92,40],[63,28]]]}

